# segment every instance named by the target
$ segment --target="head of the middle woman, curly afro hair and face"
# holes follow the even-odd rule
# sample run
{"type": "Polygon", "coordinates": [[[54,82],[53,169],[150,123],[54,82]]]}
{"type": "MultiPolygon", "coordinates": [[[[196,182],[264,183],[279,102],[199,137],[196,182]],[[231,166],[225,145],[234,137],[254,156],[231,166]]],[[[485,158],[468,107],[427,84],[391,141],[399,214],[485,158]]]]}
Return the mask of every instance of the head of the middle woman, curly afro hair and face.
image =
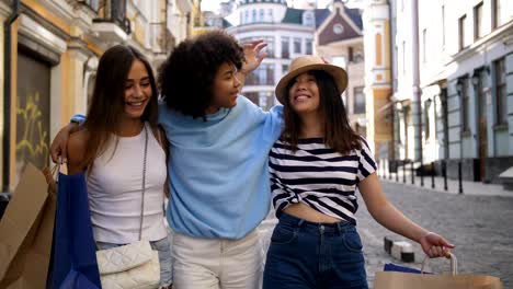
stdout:
{"type": "Polygon", "coordinates": [[[223,32],[186,39],[159,68],[160,93],[169,108],[193,117],[230,108],[248,73],[243,60],[242,47],[223,32]]]}

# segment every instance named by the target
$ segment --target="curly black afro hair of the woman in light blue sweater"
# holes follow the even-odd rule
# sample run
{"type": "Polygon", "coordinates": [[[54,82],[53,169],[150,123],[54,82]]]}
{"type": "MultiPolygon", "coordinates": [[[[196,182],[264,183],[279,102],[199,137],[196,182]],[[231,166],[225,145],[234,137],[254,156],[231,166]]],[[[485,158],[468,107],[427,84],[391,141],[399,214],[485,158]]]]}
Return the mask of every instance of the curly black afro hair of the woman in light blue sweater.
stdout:
{"type": "Polygon", "coordinates": [[[226,62],[240,69],[243,60],[243,48],[223,31],[186,39],[159,68],[160,93],[170,108],[205,118],[205,111],[212,105],[217,70],[226,62]]]}

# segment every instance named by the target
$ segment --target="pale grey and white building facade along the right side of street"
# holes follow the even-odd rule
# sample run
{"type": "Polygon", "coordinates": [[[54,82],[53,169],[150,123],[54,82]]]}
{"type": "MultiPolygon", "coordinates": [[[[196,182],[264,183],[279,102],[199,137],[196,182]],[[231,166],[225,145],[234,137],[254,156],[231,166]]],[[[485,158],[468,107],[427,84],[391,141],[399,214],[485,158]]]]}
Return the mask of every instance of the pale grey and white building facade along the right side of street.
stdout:
{"type": "Polygon", "coordinates": [[[391,2],[396,159],[499,183],[513,166],[513,4],[391,2]]]}

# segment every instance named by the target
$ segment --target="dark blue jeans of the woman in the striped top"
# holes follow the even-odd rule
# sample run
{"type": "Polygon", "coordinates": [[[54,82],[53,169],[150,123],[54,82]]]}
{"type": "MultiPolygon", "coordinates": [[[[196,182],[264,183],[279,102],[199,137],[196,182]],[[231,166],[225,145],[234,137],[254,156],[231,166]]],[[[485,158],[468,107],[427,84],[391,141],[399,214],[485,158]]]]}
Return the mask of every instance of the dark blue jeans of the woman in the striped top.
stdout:
{"type": "Polygon", "coordinates": [[[283,213],[265,262],[263,289],[367,289],[362,241],[345,221],[314,223],[283,213]]]}

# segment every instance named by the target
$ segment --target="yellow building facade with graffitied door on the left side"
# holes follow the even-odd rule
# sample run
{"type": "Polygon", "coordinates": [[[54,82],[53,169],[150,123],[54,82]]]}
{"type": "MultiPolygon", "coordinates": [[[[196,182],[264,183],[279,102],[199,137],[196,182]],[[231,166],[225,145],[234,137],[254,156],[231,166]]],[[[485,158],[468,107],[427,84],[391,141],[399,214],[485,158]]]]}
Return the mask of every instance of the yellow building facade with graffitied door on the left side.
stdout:
{"type": "Polygon", "coordinates": [[[0,0],[3,192],[27,162],[49,164],[52,138],[71,115],[87,112],[103,51],[129,44],[158,65],[183,37],[186,26],[173,19],[189,13],[187,3],[192,8],[186,0],[0,0]]]}

